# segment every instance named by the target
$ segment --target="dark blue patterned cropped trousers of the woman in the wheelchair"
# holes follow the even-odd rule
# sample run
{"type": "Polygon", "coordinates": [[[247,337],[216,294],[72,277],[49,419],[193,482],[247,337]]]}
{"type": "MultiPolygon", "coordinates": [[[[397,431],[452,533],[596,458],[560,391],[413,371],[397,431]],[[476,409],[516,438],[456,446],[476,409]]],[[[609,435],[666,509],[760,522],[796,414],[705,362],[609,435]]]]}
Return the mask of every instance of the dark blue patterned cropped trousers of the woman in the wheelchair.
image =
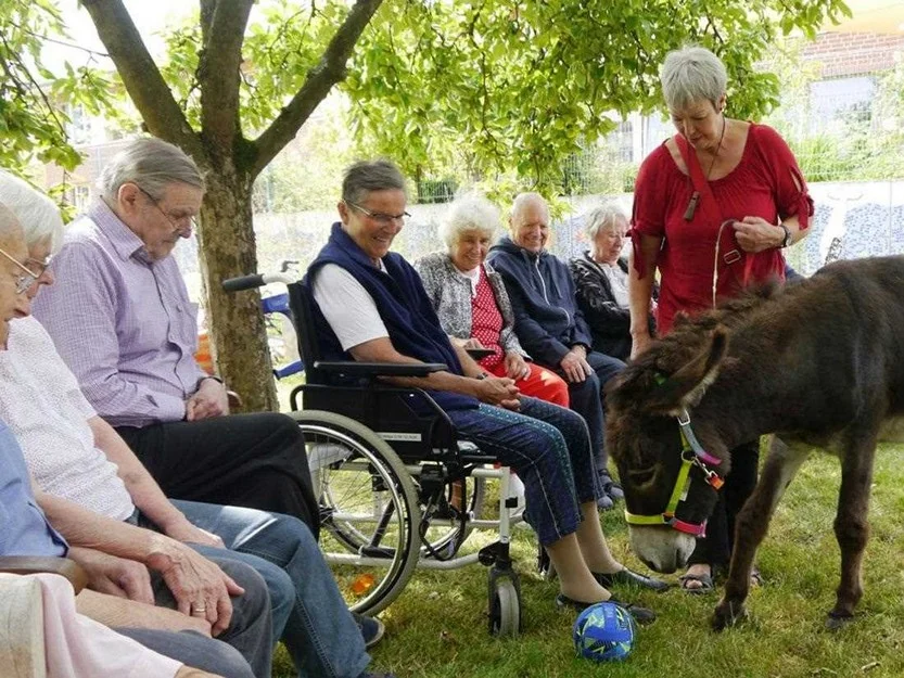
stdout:
{"type": "Polygon", "coordinates": [[[448,412],[458,435],[471,440],[524,483],[524,517],[548,546],[577,529],[580,504],[602,494],[594,472],[587,424],[557,405],[521,398],[521,411],[491,405],[448,412]]]}

